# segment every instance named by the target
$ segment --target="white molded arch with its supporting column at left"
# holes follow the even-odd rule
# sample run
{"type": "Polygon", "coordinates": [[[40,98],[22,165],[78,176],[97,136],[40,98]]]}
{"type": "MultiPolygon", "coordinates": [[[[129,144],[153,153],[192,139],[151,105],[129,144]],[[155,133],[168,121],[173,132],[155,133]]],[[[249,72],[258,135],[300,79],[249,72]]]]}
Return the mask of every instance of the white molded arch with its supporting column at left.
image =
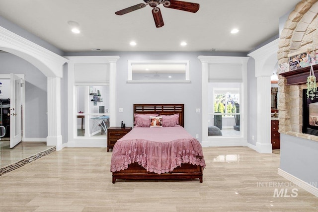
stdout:
{"type": "Polygon", "coordinates": [[[61,78],[67,59],[0,27],[0,50],[16,55],[38,68],[47,77],[47,145],[62,149],[61,78]]]}

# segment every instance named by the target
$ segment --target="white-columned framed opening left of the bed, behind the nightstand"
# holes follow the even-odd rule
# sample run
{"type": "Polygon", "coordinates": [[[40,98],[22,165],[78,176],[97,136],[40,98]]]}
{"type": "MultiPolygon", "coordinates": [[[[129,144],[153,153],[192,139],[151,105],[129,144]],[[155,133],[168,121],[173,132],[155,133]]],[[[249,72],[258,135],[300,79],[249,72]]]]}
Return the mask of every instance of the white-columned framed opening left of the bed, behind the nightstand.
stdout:
{"type": "Polygon", "coordinates": [[[119,57],[79,56],[67,59],[67,145],[105,147],[107,135],[103,127],[106,126],[107,130],[107,125],[116,126],[116,62],[119,57]]]}

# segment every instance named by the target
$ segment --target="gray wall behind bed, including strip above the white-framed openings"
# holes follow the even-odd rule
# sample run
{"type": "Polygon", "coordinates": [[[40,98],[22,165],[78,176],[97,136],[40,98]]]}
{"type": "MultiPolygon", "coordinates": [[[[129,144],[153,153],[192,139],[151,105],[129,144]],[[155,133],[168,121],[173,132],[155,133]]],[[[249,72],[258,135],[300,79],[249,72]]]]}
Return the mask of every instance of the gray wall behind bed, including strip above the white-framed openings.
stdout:
{"type": "Polygon", "coordinates": [[[181,103],[184,104],[184,127],[202,141],[202,84],[200,55],[239,56],[244,53],[210,52],[114,52],[114,53],[66,53],[67,56],[116,55],[120,59],[116,64],[116,124],[123,121],[126,126],[133,126],[133,104],[181,103]],[[127,83],[128,60],[190,60],[191,83],[127,83]],[[119,112],[123,108],[124,112],[119,112]]]}

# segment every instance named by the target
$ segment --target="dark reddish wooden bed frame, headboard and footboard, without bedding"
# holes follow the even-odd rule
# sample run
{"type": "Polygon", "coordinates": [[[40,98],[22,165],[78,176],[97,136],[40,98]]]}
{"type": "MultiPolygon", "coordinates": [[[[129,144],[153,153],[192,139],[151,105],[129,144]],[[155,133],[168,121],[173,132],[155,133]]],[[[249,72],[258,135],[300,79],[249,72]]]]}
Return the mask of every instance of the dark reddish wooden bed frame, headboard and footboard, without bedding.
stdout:
{"type": "MultiPolygon", "coordinates": [[[[179,124],[184,127],[184,105],[183,104],[134,104],[134,114],[173,115],[179,113],[179,124]]],[[[135,117],[135,116],[134,116],[135,117]]],[[[135,118],[134,118],[135,121],[135,118]]],[[[132,163],[125,170],[112,172],[112,183],[116,179],[127,180],[162,180],[162,179],[195,179],[199,178],[203,182],[203,167],[182,163],[180,167],[175,168],[169,173],[156,174],[148,172],[138,163],[132,163]]]]}

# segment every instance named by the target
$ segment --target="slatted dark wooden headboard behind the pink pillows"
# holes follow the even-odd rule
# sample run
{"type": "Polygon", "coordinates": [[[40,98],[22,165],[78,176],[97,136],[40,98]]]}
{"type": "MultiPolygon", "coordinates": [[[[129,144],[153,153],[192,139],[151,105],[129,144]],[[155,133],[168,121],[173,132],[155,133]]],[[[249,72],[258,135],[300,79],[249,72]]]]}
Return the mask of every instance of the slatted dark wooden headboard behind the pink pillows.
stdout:
{"type": "MultiPolygon", "coordinates": [[[[184,127],[184,104],[134,104],[134,114],[158,113],[160,115],[179,114],[179,125],[184,127]]],[[[135,122],[135,116],[134,116],[135,122]]]]}

